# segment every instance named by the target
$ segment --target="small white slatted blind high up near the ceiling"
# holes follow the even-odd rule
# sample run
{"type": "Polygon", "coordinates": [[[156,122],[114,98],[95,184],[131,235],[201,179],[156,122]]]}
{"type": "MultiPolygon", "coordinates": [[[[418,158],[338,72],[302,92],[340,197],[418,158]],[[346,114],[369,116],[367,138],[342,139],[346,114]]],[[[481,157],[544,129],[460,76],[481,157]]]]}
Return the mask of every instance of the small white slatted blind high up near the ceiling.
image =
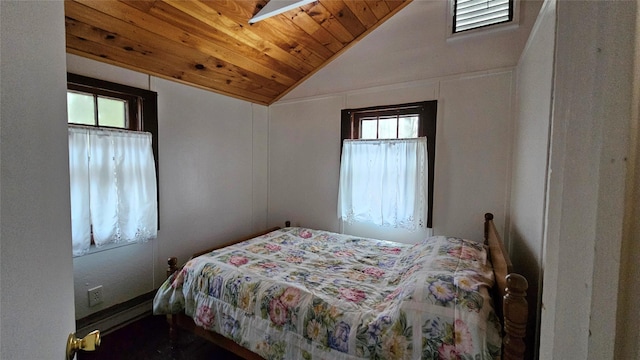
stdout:
{"type": "Polygon", "coordinates": [[[514,0],[455,0],[453,32],[513,20],[514,0]]]}

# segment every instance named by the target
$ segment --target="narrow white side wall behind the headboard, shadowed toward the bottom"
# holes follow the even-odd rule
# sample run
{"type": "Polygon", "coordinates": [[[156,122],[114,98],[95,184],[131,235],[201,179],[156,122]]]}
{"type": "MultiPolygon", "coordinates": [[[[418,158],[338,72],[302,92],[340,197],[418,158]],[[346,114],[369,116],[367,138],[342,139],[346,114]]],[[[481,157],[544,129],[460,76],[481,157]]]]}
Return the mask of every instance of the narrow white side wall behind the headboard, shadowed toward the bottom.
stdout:
{"type": "Polygon", "coordinates": [[[538,349],[536,334],[539,334],[537,305],[541,298],[555,20],[555,1],[547,1],[531,31],[516,73],[517,111],[507,238],[515,270],[529,281],[527,332],[530,341],[527,347],[533,358],[538,349]]]}

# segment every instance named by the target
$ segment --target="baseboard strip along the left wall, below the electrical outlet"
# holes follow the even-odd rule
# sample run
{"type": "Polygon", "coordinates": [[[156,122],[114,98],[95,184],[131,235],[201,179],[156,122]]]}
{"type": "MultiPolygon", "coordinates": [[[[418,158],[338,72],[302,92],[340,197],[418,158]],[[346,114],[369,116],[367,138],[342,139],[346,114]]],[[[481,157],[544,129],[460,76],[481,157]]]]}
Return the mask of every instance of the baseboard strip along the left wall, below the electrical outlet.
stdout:
{"type": "Polygon", "coordinates": [[[151,315],[155,293],[155,290],[150,291],[129,301],[76,320],[76,336],[84,337],[94,330],[100,330],[100,335],[104,336],[151,315]]]}

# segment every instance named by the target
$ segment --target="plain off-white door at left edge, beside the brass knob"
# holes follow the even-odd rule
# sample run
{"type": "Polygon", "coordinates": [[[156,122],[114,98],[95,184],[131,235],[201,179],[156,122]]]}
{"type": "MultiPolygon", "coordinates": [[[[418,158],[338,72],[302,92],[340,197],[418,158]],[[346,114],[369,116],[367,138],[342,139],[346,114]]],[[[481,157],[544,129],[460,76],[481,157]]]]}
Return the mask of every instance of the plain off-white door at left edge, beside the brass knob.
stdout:
{"type": "Polygon", "coordinates": [[[62,359],[75,329],[64,6],[0,2],[0,358],[62,359]]]}

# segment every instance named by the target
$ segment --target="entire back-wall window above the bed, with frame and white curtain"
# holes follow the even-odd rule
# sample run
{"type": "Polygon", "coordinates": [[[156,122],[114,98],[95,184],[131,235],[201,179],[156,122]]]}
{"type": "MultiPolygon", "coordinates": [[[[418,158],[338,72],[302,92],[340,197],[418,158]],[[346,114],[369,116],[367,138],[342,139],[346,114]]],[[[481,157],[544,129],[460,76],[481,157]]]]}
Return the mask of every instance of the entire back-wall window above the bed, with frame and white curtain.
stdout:
{"type": "Polygon", "coordinates": [[[431,228],[436,101],[342,111],[338,216],[431,228]]]}

